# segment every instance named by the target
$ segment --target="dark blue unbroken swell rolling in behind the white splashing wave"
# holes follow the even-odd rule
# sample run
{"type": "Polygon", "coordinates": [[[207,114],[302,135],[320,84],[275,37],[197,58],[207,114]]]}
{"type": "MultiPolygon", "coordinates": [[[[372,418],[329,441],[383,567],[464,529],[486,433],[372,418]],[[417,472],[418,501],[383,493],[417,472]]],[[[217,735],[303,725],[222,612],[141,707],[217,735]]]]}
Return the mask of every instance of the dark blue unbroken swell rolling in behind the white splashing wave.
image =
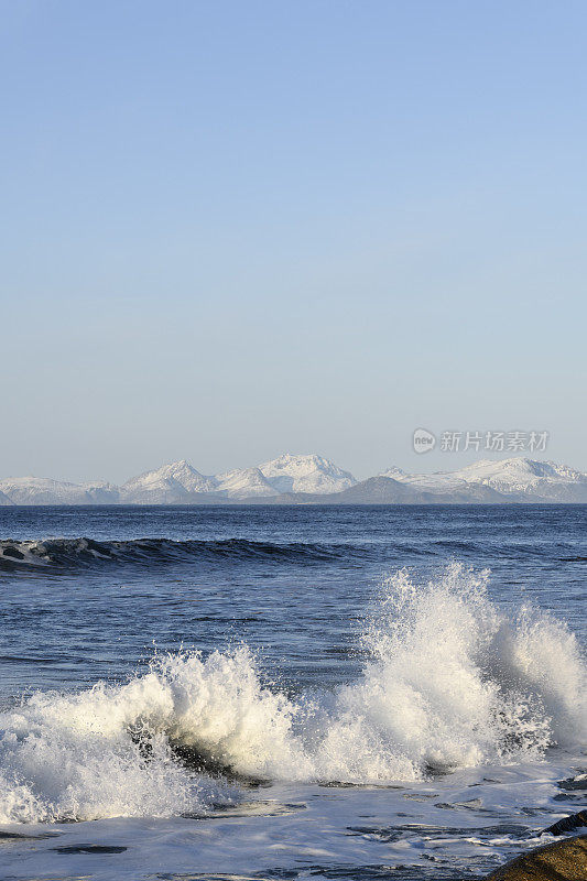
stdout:
{"type": "Polygon", "coordinates": [[[0,542],[0,570],[14,572],[31,566],[58,569],[99,565],[151,565],[153,563],[238,563],[274,562],[313,564],[349,556],[365,556],[368,546],[291,542],[272,544],[247,539],[191,540],[135,539],[104,541],[93,539],[48,539],[45,541],[0,542]]]}

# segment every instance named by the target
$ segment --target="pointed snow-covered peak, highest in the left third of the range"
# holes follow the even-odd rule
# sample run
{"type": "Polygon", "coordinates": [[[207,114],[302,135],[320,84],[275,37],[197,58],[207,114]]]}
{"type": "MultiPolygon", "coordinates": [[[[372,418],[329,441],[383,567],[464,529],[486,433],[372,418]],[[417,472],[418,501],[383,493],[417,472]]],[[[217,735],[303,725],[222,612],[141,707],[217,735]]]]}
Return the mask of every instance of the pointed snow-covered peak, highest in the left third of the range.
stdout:
{"type": "Polygon", "coordinates": [[[214,492],[217,481],[205,477],[185,459],[145,471],[127,480],[121,488],[121,501],[130,504],[171,504],[181,502],[192,492],[214,492]]]}

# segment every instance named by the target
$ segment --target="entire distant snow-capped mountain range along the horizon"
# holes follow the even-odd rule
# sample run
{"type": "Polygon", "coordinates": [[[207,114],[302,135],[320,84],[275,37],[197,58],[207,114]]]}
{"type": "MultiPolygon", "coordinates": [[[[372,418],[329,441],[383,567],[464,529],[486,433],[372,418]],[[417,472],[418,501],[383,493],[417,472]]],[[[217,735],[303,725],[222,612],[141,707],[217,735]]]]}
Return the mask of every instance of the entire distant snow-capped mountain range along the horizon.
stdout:
{"type": "Polygon", "coordinates": [[[499,504],[587,503],[587,475],[522,457],[481,460],[455,471],[406,474],[400,468],[358,481],[315,454],[284,454],[253,468],[203,475],[188,461],[164,465],[122,486],[68,483],[41,477],[0,480],[11,504],[499,504]]]}

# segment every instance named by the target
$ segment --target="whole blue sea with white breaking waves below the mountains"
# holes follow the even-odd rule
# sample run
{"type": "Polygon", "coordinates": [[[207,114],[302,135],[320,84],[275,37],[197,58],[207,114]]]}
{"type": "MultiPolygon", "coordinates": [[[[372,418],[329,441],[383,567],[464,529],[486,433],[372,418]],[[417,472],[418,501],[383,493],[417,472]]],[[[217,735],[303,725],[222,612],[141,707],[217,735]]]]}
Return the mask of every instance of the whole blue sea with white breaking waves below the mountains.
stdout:
{"type": "Polygon", "coordinates": [[[585,806],[586,505],[0,524],[0,879],[465,881],[585,806]]]}

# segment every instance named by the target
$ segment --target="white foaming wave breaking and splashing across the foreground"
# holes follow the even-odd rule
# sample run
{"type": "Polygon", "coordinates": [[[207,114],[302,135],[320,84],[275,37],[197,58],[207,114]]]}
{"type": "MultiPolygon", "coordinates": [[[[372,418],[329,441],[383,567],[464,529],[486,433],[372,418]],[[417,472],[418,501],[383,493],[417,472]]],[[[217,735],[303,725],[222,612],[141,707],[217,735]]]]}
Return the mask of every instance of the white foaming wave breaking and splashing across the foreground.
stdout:
{"type": "Polygon", "coordinates": [[[529,607],[504,616],[487,579],[456,564],[425,585],[391,577],[369,660],[334,692],[269,687],[240,645],[37,693],[0,715],[0,822],[197,813],[238,798],[239,779],[417,781],[585,743],[575,637],[529,607]]]}

